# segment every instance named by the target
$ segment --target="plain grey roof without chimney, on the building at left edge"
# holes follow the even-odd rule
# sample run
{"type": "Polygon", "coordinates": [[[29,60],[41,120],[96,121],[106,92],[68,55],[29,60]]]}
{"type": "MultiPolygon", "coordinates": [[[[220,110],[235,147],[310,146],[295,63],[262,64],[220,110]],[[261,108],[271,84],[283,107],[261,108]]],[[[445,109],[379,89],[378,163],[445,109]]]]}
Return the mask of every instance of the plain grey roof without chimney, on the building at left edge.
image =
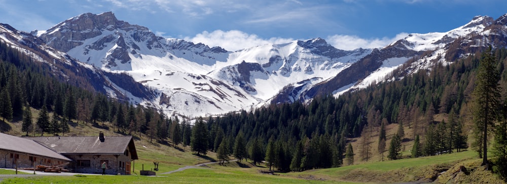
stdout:
{"type": "Polygon", "coordinates": [[[60,155],[55,150],[41,145],[38,142],[23,139],[22,137],[0,133],[0,150],[8,150],[29,155],[37,155],[49,158],[71,161],[69,158],[60,155]]]}

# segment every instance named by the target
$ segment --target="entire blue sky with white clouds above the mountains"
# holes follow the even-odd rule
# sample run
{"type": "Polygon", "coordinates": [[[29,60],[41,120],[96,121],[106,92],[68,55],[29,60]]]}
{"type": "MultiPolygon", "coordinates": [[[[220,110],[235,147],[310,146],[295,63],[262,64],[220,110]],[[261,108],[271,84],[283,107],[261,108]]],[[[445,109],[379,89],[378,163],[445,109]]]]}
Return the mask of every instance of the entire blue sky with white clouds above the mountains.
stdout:
{"type": "Polygon", "coordinates": [[[376,48],[408,33],[446,32],[474,16],[507,14],[505,0],[0,0],[0,5],[0,23],[23,31],[111,11],[158,35],[231,51],[315,37],[338,49],[376,48]]]}

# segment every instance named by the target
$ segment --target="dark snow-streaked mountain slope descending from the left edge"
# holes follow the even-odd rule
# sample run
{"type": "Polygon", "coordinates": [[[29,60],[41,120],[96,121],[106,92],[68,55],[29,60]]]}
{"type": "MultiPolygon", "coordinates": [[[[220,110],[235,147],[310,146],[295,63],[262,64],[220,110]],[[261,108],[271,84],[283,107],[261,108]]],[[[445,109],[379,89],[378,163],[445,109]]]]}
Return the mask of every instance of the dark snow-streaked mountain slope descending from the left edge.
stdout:
{"type": "Polygon", "coordinates": [[[48,74],[62,81],[125,101],[155,98],[151,89],[135,82],[130,76],[106,72],[79,62],[60,50],[48,47],[38,37],[7,24],[0,24],[0,42],[24,53],[33,61],[48,64],[48,74]]]}

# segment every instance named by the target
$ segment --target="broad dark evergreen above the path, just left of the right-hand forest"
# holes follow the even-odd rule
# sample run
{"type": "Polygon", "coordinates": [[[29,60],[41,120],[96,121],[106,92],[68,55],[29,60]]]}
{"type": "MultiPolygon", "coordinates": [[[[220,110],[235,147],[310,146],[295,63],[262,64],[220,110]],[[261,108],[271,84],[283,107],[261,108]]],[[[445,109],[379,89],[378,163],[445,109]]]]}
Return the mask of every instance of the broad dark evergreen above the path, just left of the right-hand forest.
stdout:
{"type": "Polygon", "coordinates": [[[192,128],[190,146],[193,152],[197,152],[197,155],[206,155],[208,152],[208,129],[202,117],[195,122],[192,128]]]}

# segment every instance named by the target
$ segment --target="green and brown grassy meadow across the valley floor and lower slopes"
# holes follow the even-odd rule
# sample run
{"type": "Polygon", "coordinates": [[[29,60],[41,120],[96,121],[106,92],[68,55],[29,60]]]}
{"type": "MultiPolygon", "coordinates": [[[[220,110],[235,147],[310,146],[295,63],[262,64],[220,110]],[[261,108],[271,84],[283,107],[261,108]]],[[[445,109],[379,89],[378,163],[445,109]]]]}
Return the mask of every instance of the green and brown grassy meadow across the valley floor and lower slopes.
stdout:
{"type": "MultiPolygon", "coordinates": [[[[33,110],[33,114],[38,114],[33,110]]],[[[438,119],[438,116],[436,116],[438,119]]],[[[14,135],[24,135],[20,131],[21,122],[8,122],[12,129],[7,132],[14,135]]],[[[105,123],[108,125],[108,123],[105,123]]],[[[110,128],[114,129],[114,128],[110,128]]],[[[396,124],[386,127],[386,132],[392,135],[397,129],[396,124]]],[[[72,123],[71,130],[66,135],[97,135],[103,131],[105,135],[120,135],[114,131],[97,128],[91,124],[72,123]]],[[[406,137],[411,137],[411,129],[406,127],[406,137]]],[[[176,148],[167,143],[150,142],[146,136],[135,137],[135,146],[139,156],[132,164],[133,175],[131,176],[30,176],[28,178],[5,178],[3,183],[392,183],[407,181],[433,181],[465,182],[465,183],[502,183],[497,175],[485,171],[480,166],[481,159],[473,151],[444,154],[440,156],[407,158],[381,162],[380,155],[376,152],[376,131],[371,134],[372,157],[368,162],[361,161],[358,157],[358,137],[351,141],[356,150],[356,162],[354,165],[342,166],[330,169],[315,169],[304,172],[275,173],[274,175],[262,174],[261,170],[268,170],[265,166],[255,166],[248,162],[230,162],[224,165],[210,164],[206,167],[191,168],[171,174],[161,174],[178,168],[206,163],[216,160],[216,154],[208,152],[206,156],[192,154],[189,147],[178,145],[176,148]],[[144,165],[145,170],[154,167],[153,162],[159,162],[159,177],[140,176],[139,170],[144,165]],[[466,168],[466,172],[460,171],[460,166],[466,168]]],[[[40,136],[40,134],[35,134],[40,136]]],[[[412,140],[403,143],[406,147],[405,156],[410,154],[412,140]]],[[[4,172],[2,172],[4,173],[4,172]]],[[[5,172],[9,174],[10,172],[5,172]]],[[[10,173],[12,174],[12,173],[10,173]]]]}

